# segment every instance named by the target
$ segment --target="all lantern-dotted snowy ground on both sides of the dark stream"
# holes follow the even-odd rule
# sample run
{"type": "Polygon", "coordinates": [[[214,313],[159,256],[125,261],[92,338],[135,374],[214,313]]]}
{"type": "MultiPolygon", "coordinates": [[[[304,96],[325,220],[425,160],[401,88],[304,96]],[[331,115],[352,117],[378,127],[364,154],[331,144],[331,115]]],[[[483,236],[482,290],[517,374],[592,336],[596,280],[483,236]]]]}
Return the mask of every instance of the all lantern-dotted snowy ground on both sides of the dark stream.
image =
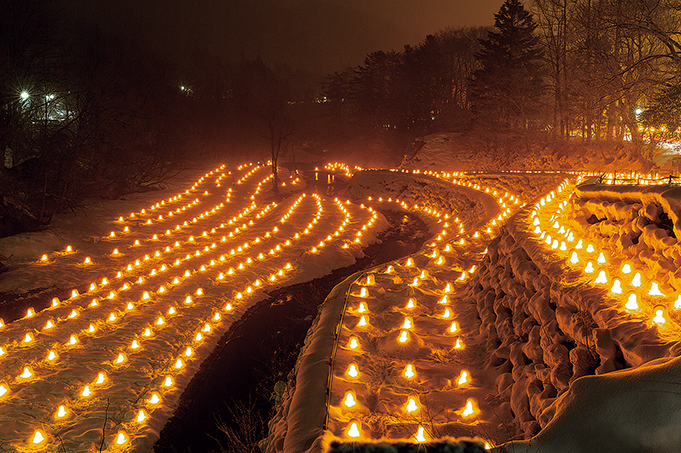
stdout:
{"type": "Polygon", "coordinates": [[[446,144],[430,137],[419,168],[357,171],[335,199],[291,179],[275,203],[266,166],[222,166],[0,240],[0,292],[72,290],[0,327],[0,451],[149,451],[232,322],[353,263],[378,209],[432,237],[329,295],[268,452],[446,436],[677,451],[679,189],[460,172],[446,144]]]}

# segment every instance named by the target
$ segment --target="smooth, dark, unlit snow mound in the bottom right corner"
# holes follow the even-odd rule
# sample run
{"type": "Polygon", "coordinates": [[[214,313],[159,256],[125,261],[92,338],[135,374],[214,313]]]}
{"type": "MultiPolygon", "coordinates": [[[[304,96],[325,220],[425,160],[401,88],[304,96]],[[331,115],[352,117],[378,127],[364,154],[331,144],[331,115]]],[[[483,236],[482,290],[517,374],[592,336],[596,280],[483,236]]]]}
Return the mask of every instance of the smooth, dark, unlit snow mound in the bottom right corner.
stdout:
{"type": "Polygon", "coordinates": [[[551,422],[528,441],[496,452],[673,452],[681,446],[681,357],[577,379],[552,406],[551,422]]]}

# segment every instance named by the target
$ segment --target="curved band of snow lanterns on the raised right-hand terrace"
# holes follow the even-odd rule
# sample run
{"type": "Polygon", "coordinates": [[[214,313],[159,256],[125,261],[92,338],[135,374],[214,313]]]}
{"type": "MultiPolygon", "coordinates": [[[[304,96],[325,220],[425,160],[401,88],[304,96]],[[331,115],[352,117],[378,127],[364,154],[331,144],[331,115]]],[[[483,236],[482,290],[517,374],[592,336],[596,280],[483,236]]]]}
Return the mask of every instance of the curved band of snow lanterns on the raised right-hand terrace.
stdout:
{"type": "MultiPolygon", "coordinates": [[[[557,189],[558,193],[567,188],[567,181],[563,182],[557,189]]],[[[597,285],[610,285],[610,294],[612,297],[618,299],[626,291],[626,301],[624,308],[629,313],[638,313],[641,309],[640,300],[643,289],[645,295],[650,298],[654,304],[653,316],[650,321],[652,324],[659,327],[667,323],[665,317],[666,307],[659,303],[666,297],[660,291],[659,285],[656,281],[651,281],[648,290],[645,290],[644,280],[641,272],[635,271],[632,265],[628,262],[620,263],[618,271],[620,278],[612,278],[614,272],[608,269],[608,260],[603,251],[598,251],[592,243],[586,243],[584,239],[577,238],[575,232],[571,229],[566,229],[561,226],[559,219],[561,214],[567,207],[568,201],[564,199],[558,204],[554,214],[551,215],[549,223],[551,228],[541,228],[541,221],[539,220],[539,213],[543,208],[548,206],[548,203],[554,201],[556,198],[555,192],[551,192],[546,197],[542,198],[531,212],[533,232],[543,241],[547,246],[554,250],[560,250],[569,255],[569,263],[573,266],[583,265],[582,271],[590,276],[593,276],[593,283],[597,285]],[[553,236],[551,229],[555,230],[553,236]],[[559,240],[558,237],[562,236],[559,240]],[[580,257],[580,253],[582,256],[580,257]],[[592,258],[595,257],[595,258],[592,258]],[[585,264],[584,264],[585,263],[585,264]],[[627,281],[628,283],[623,283],[627,281]],[[627,290],[626,286],[629,286],[627,290]]],[[[613,266],[610,266],[613,267],[613,266]]],[[[674,310],[681,309],[681,295],[679,295],[673,305],[674,310]]]]}

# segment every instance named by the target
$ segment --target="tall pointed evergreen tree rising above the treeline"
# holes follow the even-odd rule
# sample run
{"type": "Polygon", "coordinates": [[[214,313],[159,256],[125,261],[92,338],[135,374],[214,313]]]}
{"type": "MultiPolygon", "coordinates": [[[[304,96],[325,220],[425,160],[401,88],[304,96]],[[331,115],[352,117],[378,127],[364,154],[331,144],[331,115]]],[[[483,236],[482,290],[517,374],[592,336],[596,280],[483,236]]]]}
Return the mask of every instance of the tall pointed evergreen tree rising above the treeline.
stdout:
{"type": "Polygon", "coordinates": [[[544,92],[537,24],[519,0],[506,0],[494,17],[495,30],[480,41],[476,54],[474,113],[486,127],[527,130],[537,125],[544,92]]]}

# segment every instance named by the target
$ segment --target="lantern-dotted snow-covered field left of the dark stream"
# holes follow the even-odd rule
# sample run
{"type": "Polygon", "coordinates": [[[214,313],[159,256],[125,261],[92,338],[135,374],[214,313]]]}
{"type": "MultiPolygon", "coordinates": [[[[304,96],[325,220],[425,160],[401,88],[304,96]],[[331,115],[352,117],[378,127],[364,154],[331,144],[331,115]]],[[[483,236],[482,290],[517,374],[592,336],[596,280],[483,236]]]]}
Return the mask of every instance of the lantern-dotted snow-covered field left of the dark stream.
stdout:
{"type": "Polygon", "coordinates": [[[3,292],[72,290],[0,327],[0,451],[150,450],[201,360],[264,291],[354,263],[385,226],[303,190],[275,203],[270,179],[267,166],[223,166],[113,203],[115,216],[102,207],[90,229],[59,219],[0,241],[3,292]]]}

